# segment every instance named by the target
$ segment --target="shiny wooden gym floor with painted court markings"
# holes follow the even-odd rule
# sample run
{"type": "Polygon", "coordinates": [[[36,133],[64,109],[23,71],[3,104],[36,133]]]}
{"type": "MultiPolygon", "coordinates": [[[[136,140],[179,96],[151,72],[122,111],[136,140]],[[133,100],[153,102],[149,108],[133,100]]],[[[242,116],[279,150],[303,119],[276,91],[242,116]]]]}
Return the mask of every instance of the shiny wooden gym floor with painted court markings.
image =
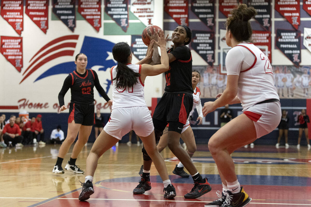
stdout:
{"type": "MultiPolygon", "coordinates": [[[[211,183],[212,190],[198,199],[183,197],[193,187],[192,178],[180,178],[172,173],[178,160],[166,148],[162,155],[166,160],[169,177],[177,196],[173,200],[163,198],[163,184],[155,167],[151,168],[150,191],[133,195],[132,190],[140,181],[138,171],[142,165],[141,146],[125,143],[111,148],[100,158],[94,176],[95,193],[87,201],[77,199],[84,182],[84,174],[65,170],[53,174],[60,145],[44,147],[0,149],[0,206],[188,206],[199,207],[218,199],[221,181],[207,145],[198,145],[193,156],[198,171],[211,183]]],[[[92,143],[85,146],[77,164],[85,170],[86,157],[92,143]]],[[[63,168],[70,157],[66,155],[63,168]]],[[[275,146],[240,148],[233,153],[238,179],[252,198],[249,207],[311,206],[311,151],[301,146],[289,149],[275,146]]]]}

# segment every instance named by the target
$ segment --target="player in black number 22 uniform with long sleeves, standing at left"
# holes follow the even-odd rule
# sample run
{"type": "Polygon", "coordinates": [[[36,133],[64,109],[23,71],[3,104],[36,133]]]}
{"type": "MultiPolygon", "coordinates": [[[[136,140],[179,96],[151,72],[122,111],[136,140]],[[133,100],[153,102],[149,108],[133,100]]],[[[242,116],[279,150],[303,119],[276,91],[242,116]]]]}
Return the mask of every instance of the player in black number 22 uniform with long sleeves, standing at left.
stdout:
{"type": "Polygon", "coordinates": [[[83,146],[86,144],[91,134],[92,126],[95,123],[94,86],[108,104],[112,105],[112,100],[109,99],[104,89],[100,86],[96,72],[86,69],[86,55],[83,53],[77,54],[75,64],[77,65],[77,69],[67,76],[58,94],[59,106],[61,106],[58,112],[60,113],[67,109],[64,103],[64,96],[69,88],[71,90],[67,137],[59,148],[53,173],[64,173],[62,168],[63,159],[78,133],[78,140],[73,147],[70,160],[67,162],[65,169],[73,173],[84,173],[76,165],[76,160],[83,146]]]}

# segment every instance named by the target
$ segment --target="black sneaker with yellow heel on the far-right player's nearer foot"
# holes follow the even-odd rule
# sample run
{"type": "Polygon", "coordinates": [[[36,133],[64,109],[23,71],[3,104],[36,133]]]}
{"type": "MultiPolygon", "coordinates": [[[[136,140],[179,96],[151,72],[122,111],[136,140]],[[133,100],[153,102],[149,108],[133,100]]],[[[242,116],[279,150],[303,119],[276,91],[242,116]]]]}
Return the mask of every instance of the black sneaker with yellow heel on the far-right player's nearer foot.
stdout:
{"type": "Polygon", "coordinates": [[[251,202],[251,200],[252,199],[247,195],[243,187],[241,187],[241,191],[239,193],[233,194],[228,191],[225,202],[221,205],[221,207],[243,207],[251,202]]]}

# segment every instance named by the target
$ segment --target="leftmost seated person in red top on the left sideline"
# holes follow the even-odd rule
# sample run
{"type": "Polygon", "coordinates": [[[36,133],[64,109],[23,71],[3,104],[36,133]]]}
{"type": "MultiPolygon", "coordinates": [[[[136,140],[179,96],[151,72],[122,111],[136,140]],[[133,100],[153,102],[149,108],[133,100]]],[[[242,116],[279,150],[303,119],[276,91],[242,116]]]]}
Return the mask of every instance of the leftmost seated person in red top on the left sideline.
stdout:
{"type": "Polygon", "coordinates": [[[23,136],[21,136],[21,130],[17,124],[15,124],[15,118],[10,117],[10,123],[6,124],[3,128],[3,140],[7,146],[15,146],[17,143],[21,143],[23,136]]]}

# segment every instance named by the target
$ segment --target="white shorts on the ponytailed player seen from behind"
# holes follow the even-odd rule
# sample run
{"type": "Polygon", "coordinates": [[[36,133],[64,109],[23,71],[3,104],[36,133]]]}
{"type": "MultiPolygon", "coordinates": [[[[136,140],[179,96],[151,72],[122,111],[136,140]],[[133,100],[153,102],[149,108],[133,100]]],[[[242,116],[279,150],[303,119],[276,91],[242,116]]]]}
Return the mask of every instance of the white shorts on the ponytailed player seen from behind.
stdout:
{"type": "Polygon", "coordinates": [[[135,106],[113,109],[104,130],[121,140],[131,130],[140,137],[147,137],[153,132],[154,127],[148,107],[135,106]]]}

